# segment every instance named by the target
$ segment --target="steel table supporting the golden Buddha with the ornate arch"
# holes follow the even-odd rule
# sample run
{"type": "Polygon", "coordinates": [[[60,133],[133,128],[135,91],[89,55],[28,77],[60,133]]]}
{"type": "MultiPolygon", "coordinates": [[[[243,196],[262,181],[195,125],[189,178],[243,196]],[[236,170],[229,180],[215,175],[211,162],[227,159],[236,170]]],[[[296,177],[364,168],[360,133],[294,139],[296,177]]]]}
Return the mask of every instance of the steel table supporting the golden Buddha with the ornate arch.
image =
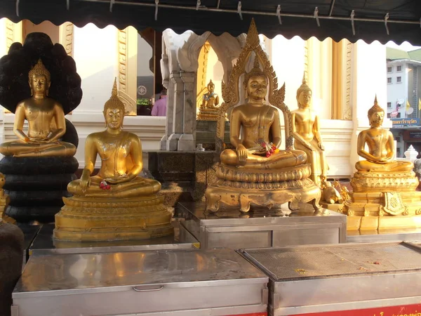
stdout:
{"type": "Polygon", "coordinates": [[[300,211],[287,209],[240,213],[221,209],[205,213],[204,202],[179,203],[180,240],[193,235],[201,249],[227,247],[260,248],[301,244],[338,244],[346,242],[347,216],[330,211],[327,216],[314,216],[309,204],[300,204],[300,211]]]}

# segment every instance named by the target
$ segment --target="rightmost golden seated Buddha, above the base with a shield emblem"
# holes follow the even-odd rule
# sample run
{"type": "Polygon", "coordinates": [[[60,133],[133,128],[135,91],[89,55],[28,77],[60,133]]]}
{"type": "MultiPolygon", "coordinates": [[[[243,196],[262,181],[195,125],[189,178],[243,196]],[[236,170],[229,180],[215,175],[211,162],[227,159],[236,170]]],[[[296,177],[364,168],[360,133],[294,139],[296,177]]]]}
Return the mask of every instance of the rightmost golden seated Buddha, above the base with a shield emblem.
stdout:
{"type": "Polygon", "coordinates": [[[392,132],[382,129],[385,110],[377,104],[377,96],[373,107],[368,110],[370,129],[361,131],[357,141],[357,153],[366,160],[356,162],[358,171],[379,172],[412,171],[412,162],[392,160],[395,154],[394,138],[392,132]],[[368,145],[368,152],[365,146],[368,145]]]}

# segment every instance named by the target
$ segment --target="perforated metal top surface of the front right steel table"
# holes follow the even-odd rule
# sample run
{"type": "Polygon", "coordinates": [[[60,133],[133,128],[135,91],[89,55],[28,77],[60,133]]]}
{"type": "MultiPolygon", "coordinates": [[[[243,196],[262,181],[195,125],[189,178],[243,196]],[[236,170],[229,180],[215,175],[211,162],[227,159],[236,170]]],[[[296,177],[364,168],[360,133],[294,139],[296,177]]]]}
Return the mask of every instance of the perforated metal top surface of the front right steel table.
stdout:
{"type": "Polygon", "coordinates": [[[405,243],[247,249],[243,255],[275,281],[421,270],[421,253],[405,243]]]}

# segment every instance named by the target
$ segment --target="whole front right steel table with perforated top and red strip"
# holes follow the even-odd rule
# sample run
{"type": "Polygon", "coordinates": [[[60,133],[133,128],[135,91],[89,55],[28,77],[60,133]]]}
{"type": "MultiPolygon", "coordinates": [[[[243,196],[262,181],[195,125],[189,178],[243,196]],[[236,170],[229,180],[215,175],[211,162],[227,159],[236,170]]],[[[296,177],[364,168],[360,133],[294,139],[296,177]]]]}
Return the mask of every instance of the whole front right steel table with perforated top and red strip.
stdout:
{"type": "MultiPolygon", "coordinates": [[[[269,315],[421,312],[421,247],[401,243],[241,249],[269,279],[269,315]],[[396,307],[397,306],[397,307],[396,307]],[[346,312],[345,312],[346,311],[346,312]]],[[[416,314],[413,314],[416,315],[416,314]]]]}

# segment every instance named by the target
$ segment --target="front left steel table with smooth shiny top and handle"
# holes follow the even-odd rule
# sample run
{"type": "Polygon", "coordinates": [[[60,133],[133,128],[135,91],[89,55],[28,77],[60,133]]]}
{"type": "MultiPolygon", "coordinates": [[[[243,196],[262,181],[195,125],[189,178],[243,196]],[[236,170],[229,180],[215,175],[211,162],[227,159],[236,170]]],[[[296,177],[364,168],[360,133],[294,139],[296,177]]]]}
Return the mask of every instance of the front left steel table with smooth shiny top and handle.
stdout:
{"type": "Polygon", "coordinates": [[[267,282],[229,249],[31,256],[12,315],[263,316],[267,282]]]}

